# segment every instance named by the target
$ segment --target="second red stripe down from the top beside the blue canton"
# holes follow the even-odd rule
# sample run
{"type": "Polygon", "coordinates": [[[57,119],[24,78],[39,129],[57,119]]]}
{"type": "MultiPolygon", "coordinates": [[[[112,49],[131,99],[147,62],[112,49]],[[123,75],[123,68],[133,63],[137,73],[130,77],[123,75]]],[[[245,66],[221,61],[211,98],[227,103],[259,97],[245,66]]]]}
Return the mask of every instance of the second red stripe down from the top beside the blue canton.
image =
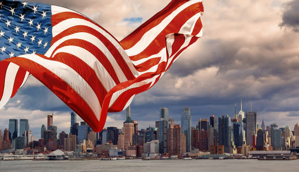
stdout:
{"type": "MultiPolygon", "coordinates": [[[[52,39],[52,43],[56,42],[57,40],[59,40],[61,38],[66,37],[68,35],[78,33],[78,32],[85,32],[85,33],[91,34],[91,35],[97,37],[99,40],[101,40],[103,42],[103,44],[107,47],[107,49],[110,51],[110,53],[113,55],[113,57],[115,58],[116,62],[118,63],[118,65],[122,69],[122,71],[125,74],[125,76],[127,77],[127,79],[130,80],[130,79],[135,78],[135,76],[132,74],[130,68],[128,67],[128,65],[126,63],[126,61],[124,60],[122,55],[119,53],[117,48],[105,36],[103,36],[101,33],[99,33],[95,29],[92,29],[88,26],[74,26],[74,27],[71,27],[69,29],[66,29],[63,32],[61,32],[59,35],[54,37],[52,39]]],[[[55,51],[53,51],[53,53],[54,52],[55,51]]]]}

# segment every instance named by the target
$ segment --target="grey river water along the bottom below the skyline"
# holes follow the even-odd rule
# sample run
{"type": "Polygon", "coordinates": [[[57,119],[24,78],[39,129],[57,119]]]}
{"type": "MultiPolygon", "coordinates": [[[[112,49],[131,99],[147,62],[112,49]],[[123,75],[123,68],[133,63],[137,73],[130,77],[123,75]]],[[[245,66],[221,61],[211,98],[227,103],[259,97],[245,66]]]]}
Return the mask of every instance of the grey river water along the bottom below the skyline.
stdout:
{"type": "Polygon", "coordinates": [[[0,161],[4,172],[295,172],[299,160],[0,161]]]}

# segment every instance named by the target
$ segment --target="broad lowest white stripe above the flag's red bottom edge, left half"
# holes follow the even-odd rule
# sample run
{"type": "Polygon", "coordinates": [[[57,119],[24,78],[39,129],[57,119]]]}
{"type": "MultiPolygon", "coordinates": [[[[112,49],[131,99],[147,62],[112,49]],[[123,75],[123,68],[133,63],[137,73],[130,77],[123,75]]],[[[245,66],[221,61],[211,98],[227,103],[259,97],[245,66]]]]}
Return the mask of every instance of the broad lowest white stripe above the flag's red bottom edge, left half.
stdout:
{"type": "Polygon", "coordinates": [[[99,99],[89,84],[76,71],[64,63],[44,59],[37,55],[30,54],[22,55],[20,57],[40,64],[45,69],[64,80],[65,83],[67,83],[79,96],[84,99],[84,101],[96,115],[97,119],[100,119],[101,105],[99,99]]]}

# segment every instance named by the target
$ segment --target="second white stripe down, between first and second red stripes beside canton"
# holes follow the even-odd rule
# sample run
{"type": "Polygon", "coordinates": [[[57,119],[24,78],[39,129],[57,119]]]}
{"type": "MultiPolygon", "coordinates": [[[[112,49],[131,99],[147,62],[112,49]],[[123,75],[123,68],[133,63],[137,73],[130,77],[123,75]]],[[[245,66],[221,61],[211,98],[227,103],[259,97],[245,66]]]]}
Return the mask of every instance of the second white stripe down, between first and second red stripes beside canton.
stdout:
{"type": "MultiPolygon", "coordinates": [[[[98,31],[99,33],[101,33],[104,37],[106,37],[115,46],[115,48],[118,50],[120,55],[126,61],[132,74],[134,76],[138,76],[138,71],[136,71],[136,69],[134,68],[130,58],[128,57],[127,53],[122,48],[122,46],[114,38],[112,38],[106,31],[104,31],[102,28],[98,27],[97,25],[95,25],[89,21],[86,21],[85,19],[66,19],[66,20],[58,23],[57,25],[55,25],[52,28],[53,37],[55,37],[56,35],[60,34],[61,32],[63,32],[64,30],[66,30],[70,27],[74,27],[74,26],[78,26],[78,25],[85,25],[85,26],[91,27],[91,28],[95,29],[96,31],[98,31]]],[[[48,52],[45,54],[45,56],[49,57],[50,56],[49,54],[52,54],[51,51],[54,51],[54,50],[53,49],[48,50],[48,52]]]]}

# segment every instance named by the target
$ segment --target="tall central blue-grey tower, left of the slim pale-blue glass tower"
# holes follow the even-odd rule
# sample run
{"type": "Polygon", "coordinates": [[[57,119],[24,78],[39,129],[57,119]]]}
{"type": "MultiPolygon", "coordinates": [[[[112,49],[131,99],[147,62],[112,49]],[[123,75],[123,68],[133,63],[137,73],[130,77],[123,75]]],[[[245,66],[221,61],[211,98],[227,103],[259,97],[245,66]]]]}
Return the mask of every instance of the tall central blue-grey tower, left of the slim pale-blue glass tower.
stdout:
{"type": "Polygon", "coordinates": [[[168,151],[168,109],[160,108],[159,120],[159,153],[167,153],[168,151]]]}

